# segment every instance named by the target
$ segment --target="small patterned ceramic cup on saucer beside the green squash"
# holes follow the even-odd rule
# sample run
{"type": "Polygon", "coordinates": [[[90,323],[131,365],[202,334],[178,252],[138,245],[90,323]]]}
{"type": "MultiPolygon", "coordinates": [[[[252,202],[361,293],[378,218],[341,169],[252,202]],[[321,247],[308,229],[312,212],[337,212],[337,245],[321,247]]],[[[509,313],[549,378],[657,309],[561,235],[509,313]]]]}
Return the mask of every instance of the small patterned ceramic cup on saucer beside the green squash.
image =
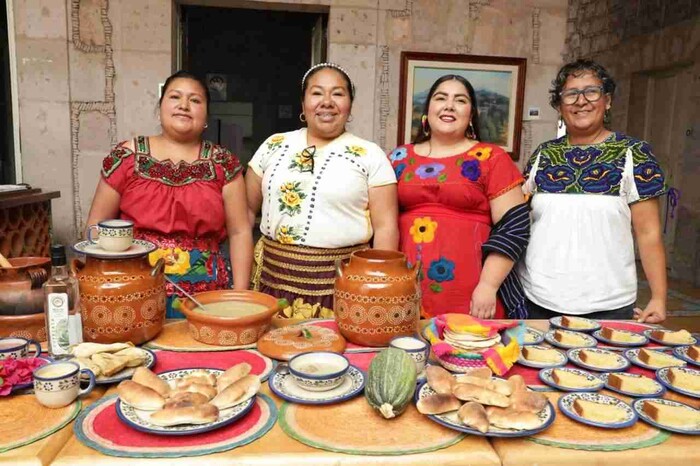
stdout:
{"type": "Polygon", "coordinates": [[[343,383],[350,362],[330,351],[302,353],[289,360],[289,372],[299,387],[312,392],[332,390],[343,383]]]}

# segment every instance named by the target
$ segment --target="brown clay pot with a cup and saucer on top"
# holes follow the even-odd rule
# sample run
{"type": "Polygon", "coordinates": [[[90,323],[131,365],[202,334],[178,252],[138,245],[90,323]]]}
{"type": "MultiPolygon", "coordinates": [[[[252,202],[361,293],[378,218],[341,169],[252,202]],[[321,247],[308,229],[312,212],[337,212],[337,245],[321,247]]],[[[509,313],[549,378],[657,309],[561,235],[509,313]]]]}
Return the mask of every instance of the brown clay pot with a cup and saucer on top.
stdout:
{"type": "Polygon", "coordinates": [[[139,345],[158,335],[165,322],[162,265],[159,261],[151,267],[147,254],[128,259],[87,256],[85,263],[74,259],[71,270],[80,288],[83,339],[139,345]]]}

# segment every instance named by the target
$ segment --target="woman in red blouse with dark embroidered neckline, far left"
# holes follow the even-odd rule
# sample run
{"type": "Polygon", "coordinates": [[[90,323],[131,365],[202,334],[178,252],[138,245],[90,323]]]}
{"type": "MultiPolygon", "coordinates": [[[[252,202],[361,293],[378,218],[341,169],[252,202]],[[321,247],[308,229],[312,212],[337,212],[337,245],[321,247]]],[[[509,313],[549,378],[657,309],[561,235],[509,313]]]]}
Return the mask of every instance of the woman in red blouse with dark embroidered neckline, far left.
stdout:
{"type": "MultiPolygon", "coordinates": [[[[188,292],[230,287],[231,264],[233,288],[247,289],[253,240],[245,184],[238,159],[202,140],[209,91],[179,71],[165,81],[159,105],[161,134],[124,141],[104,159],[88,225],[133,221],[134,236],[158,246],[151,264],[165,258],[165,273],[188,292]]],[[[166,289],[167,316],[181,317],[180,292],[166,289]]]]}

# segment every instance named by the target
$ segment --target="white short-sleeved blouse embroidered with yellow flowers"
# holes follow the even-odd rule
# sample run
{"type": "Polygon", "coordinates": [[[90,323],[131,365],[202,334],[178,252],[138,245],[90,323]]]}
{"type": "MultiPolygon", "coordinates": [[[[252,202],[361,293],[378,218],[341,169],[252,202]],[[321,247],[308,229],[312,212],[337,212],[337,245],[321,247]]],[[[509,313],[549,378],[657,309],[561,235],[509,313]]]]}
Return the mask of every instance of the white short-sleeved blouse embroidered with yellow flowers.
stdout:
{"type": "Polygon", "coordinates": [[[369,241],[369,188],[396,183],[376,144],[344,133],[310,149],[305,128],[270,136],[249,167],[262,178],[262,234],[316,248],[369,241]]]}

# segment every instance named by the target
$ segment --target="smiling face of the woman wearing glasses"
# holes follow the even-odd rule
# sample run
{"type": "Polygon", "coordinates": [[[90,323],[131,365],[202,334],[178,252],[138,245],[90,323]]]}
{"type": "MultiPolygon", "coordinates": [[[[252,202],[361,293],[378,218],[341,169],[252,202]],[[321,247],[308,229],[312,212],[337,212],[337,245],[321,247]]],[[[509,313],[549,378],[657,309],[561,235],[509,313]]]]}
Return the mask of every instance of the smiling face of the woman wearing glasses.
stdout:
{"type": "MultiPolygon", "coordinates": [[[[602,85],[603,82],[593,73],[584,72],[579,76],[569,76],[561,92],[602,85]]],[[[567,105],[563,102],[559,104],[559,112],[566,123],[566,131],[569,135],[586,136],[603,131],[605,110],[610,108],[610,100],[609,95],[603,95],[596,102],[589,102],[583,95],[579,95],[573,104],[567,105]]]]}

